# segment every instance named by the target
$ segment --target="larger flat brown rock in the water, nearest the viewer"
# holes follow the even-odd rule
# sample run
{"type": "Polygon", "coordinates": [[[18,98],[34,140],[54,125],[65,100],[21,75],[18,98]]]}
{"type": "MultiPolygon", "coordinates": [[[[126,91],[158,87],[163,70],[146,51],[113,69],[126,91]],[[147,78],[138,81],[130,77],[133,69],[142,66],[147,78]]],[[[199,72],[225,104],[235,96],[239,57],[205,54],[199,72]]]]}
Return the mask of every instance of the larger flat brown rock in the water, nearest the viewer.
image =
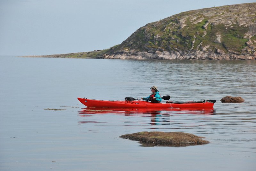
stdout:
{"type": "Polygon", "coordinates": [[[138,132],[120,137],[139,141],[145,146],[189,146],[210,143],[201,139],[204,137],[183,132],[138,132]]]}

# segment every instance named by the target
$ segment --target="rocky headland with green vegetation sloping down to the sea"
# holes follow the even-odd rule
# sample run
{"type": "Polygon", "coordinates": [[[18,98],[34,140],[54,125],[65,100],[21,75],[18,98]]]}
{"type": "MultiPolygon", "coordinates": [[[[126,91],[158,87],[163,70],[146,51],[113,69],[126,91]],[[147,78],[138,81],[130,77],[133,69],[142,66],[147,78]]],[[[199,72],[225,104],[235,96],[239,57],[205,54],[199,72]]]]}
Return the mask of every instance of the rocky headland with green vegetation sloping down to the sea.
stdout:
{"type": "Polygon", "coordinates": [[[256,3],[182,12],[140,27],[105,50],[47,58],[256,59],[256,3]]]}

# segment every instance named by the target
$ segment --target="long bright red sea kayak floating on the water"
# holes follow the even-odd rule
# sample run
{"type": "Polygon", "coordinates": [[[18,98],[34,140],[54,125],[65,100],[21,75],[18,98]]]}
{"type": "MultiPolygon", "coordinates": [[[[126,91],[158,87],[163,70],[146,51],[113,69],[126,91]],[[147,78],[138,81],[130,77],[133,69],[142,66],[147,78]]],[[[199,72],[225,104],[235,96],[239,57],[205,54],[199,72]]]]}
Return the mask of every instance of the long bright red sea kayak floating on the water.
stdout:
{"type": "MultiPolygon", "coordinates": [[[[189,101],[189,102],[176,102],[167,101],[166,103],[151,103],[143,100],[124,100],[124,101],[111,101],[111,100],[94,100],[88,98],[77,98],[82,104],[87,107],[98,108],[213,108],[216,100],[203,100],[203,101],[189,101]]],[[[134,98],[132,98],[134,99],[134,98]]]]}

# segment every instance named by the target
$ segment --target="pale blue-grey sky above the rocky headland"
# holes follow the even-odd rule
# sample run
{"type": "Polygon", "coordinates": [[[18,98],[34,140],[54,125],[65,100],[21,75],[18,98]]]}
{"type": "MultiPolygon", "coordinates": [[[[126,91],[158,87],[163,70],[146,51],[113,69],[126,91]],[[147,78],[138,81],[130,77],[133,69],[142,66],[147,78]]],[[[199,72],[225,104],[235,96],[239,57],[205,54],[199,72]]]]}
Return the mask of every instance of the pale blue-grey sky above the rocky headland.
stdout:
{"type": "Polygon", "coordinates": [[[256,0],[0,0],[0,55],[102,50],[147,23],[256,0]]]}

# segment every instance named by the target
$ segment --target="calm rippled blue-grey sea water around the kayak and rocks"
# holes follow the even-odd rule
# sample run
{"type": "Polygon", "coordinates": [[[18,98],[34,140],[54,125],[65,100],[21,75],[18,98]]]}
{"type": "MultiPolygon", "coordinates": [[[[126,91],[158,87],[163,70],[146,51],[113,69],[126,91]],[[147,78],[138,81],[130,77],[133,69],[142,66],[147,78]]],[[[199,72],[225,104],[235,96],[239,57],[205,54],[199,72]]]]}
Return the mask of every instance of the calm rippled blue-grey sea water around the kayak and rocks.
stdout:
{"type": "Polygon", "coordinates": [[[256,61],[0,58],[0,170],[255,170],[256,61]],[[77,97],[217,100],[213,111],[89,111],[77,97]],[[225,96],[243,97],[222,104],[225,96]],[[45,110],[59,109],[59,110],[45,110]],[[187,132],[211,144],[145,147],[119,136],[187,132]]]}

